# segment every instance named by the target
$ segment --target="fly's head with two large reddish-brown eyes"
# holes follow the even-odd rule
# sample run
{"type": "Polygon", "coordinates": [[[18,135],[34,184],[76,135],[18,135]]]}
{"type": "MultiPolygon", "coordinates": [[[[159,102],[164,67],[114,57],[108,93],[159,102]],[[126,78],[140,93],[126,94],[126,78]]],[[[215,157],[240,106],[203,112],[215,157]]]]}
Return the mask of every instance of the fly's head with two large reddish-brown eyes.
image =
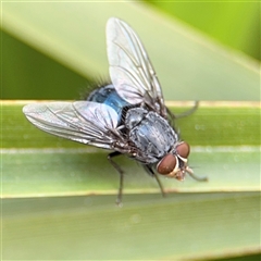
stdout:
{"type": "Polygon", "coordinates": [[[157,164],[158,173],[183,181],[186,172],[192,174],[192,170],[187,164],[189,152],[189,145],[185,141],[179,142],[175,150],[164,156],[157,164]]]}

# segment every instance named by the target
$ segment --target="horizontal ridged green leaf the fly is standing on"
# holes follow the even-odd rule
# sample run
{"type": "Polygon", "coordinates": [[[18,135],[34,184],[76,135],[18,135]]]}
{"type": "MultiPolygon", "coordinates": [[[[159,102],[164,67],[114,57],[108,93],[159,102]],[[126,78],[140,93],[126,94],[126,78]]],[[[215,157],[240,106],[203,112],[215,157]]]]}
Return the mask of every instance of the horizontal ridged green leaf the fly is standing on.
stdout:
{"type": "MultiPolygon", "coordinates": [[[[191,146],[189,164],[209,182],[162,178],[169,191],[260,189],[260,108],[254,102],[241,104],[220,102],[211,107],[202,102],[194,115],[177,121],[182,137],[191,146]]],[[[173,112],[181,110],[172,107],[173,112]]],[[[119,177],[107,160],[108,152],[37,129],[16,102],[2,104],[2,126],[4,197],[116,192],[119,177]]],[[[119,163],[126,170],[125,191],[159,190],[139,165],[124,158],[119,163]]]]}

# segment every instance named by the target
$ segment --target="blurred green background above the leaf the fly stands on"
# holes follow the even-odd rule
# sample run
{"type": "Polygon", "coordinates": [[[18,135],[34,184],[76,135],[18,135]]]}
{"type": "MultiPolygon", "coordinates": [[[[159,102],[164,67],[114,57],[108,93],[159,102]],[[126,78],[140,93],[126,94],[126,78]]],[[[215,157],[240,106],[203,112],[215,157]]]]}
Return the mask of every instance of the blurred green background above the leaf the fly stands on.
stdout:
{"type": "Polygon", "coordinates": [[[77,99],[91,78],[109,78],[110,16],[139,34],[169,100],[259,99],[260,3],[251,1],[5,1],[1,97],[77,99]]]}

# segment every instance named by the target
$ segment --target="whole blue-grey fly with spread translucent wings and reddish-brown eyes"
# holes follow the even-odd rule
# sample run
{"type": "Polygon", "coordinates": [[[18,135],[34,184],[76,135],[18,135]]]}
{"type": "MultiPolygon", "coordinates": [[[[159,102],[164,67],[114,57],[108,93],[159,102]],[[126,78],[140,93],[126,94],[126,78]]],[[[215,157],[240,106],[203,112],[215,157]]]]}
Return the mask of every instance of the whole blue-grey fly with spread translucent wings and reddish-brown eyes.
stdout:
{"type": "Polygon", "coordinates": [[[175,116],[164,104],[141,41],[119,18],[107,23],[107,52],[111,84],[94,90],[84,101],[27,104],[23,108],[26,117],[47,133],[113,150],[108,160],[120,174],[117,204],[122,202],[123,171],[113,160],[116,156],[126,154],[141,163],[162,194],[157,173],[178,181],[187,173],[206,181],[188,166],[189,145],[172,126],[175,116]]]}

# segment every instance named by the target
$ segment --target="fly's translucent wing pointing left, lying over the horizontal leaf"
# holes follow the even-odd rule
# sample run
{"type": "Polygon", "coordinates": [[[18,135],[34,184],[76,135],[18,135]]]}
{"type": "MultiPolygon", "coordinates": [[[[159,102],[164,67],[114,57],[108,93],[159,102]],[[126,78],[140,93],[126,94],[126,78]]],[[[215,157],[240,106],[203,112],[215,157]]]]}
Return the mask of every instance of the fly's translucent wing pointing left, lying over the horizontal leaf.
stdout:
{"type": "Polygon", "coordinates": [[[27,104],[26,117],[38,128],[82,144],[113,149],[121,140],[116,112],[102,103],[89,101],[27,104]]]}

